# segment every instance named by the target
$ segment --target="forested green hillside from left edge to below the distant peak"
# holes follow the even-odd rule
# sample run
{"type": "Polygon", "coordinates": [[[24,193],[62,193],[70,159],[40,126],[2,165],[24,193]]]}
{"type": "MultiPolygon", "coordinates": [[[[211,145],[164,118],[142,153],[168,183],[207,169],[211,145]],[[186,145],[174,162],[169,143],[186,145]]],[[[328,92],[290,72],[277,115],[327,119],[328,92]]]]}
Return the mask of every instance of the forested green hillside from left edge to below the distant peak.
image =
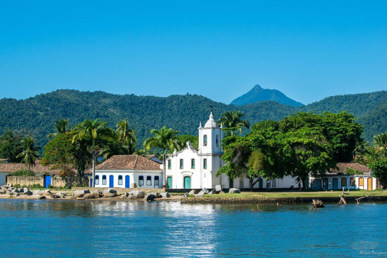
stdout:
{"type": "Polygon", "coordinates": [[[100,118],[115,128],[118,120],[127,118],[135,129],[138,142],[149,136],[152,128],[173,127],[182,134],[197,134],[199,122],[205,123],[209,105],[214,116],[228,110],[241,110],[252,123],[264,119],[282,119],[294,108],[274,101],[262,101],[243,107],[215,102],[199,95],[156,96],[114,95],[102,91],[81,92],[57,90],[26,100],[0,100],[0,129],[33,130],[38,143],[47,143],[46,135],[53,131],[53,123],[60,118],[70,119],[70,127],[86,118],[100,118]]]}

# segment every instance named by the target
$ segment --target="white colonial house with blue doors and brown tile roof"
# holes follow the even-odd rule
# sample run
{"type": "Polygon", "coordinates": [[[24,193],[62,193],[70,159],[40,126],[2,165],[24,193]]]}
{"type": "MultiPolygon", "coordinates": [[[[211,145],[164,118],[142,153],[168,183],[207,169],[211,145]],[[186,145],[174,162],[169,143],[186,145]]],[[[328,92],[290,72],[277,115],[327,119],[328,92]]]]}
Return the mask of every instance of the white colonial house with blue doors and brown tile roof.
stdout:
{"type": "Polygon", "coordinates": [[[95,187],[162,188],[162,165],[140,155],[114,155],[95,168],[95,187]]]}

